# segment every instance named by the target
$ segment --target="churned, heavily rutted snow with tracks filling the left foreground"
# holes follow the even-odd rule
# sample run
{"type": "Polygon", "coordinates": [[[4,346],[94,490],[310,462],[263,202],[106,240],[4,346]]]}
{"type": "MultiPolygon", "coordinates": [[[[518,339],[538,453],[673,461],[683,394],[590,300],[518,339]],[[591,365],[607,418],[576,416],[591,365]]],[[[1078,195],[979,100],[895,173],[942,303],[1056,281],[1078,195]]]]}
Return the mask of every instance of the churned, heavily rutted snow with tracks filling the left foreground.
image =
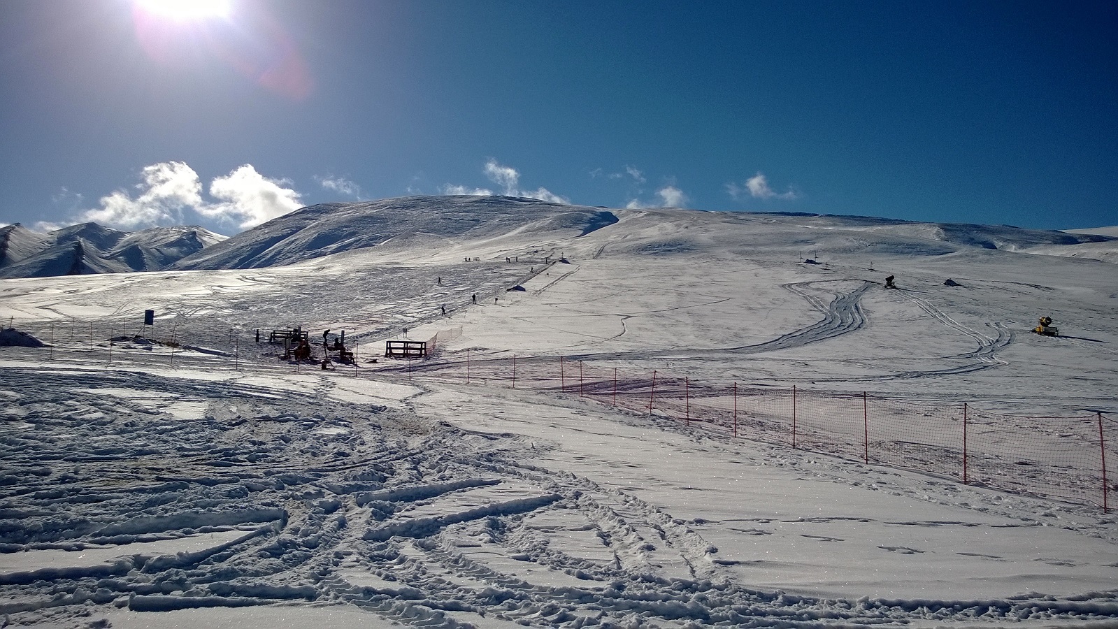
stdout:
{"type": "Polygon", "coordinates": [[[3,429],[0,486],[0,612],[12,618],[85,602],[167,611],[283,601],[345,601],[416,627],[465,627],[470,618],[579,627],[633,614],[665,627],[827,627],[1059,619],[1088,604],[1118,618],[1110,599],[846,601],[758,591],[727,575],[692,523],[523,460],[546,445],[407,410],[339,406],[328,380],[302,391],[3,372],[19,384],[20,409],[19,423],[3,429]],[[206,400],[205,417],[178,419],[122,388],[163,402],[206,400]],[[195,552],[129,551],[237,530],[231,543],[195,552]],[[25,554],[114,546],[120,554],[107,563],[13,568],[25,554]]]}

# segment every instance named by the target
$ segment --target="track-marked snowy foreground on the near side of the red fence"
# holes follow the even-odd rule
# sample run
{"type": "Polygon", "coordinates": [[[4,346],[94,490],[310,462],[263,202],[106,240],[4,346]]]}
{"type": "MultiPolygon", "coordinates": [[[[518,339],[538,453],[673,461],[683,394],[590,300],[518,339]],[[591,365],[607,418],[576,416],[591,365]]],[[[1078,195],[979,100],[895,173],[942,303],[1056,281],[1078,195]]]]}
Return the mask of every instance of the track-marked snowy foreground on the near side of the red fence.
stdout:
{"type": "Polygon", "coordinates": [[[562,395],[4,371],[19,420],[0,582],[17,622],[1118,614],[1118,540],[1097,509],[697,438],[562,395]],[[241,606],[272,607],[226,610],[241,606]]]}

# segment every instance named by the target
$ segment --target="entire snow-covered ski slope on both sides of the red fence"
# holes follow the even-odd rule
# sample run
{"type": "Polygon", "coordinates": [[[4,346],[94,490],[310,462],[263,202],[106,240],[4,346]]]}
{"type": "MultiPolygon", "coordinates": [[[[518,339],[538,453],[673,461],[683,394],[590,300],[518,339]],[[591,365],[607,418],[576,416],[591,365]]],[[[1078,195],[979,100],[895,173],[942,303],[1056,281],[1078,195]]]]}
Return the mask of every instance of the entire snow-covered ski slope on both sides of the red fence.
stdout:
{"type": "MultiPolygon", "coordinates": [[[[397,203],[407,221],[445,207],[397,203]]],[[[0,347],[8,622],[1118,621],[1118,518],[1098,506],[732,439],[484,371],[515,354],[524,378],[565,356],[598,373],[1112,418],[1114,265],[959,240],[1007,228],[476,203],[505,222],[292,249],[288,266],[0,282],[3,325],[54,345],[0,347]],[[173,355],[131,339],[146,308],[158,318],[142,332],[173,334],[173,355]],[[1030,334],[1041,315],[1063,336],[1030,334]],[[358,365],[294,365],[255,343],[257,327],[294,325],[345,330],[358,365]],[[378,355],[442,331],[410,379],[378,355]]]]}

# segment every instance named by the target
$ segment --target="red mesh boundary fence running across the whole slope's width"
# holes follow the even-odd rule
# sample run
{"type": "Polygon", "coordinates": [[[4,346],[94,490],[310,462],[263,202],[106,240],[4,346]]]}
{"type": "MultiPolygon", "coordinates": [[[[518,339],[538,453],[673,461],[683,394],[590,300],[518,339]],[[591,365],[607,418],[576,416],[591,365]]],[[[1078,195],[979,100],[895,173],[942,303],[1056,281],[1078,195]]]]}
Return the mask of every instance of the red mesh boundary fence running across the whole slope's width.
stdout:
{"type": "MultiPolygon", "coordinates": [[[[40,346],[3,347],[20,360],[201,369],[316,370],[319,362],[280,360],[284,349],[257,342],[255,331],[190,325],[155,326],[122,322],[66,320],[13,321],[0,325],[0,344],[18,344],[27,333],[40,346]],[[199,328],[203,327],[203,328],[199,328]],[[18,330],[19,332],[16,332],[18,330]],[[15,339],[16,343],[12,343],[15,339]]],[[[439,332],[429,343],[461,336],[439,332]]],[[[331,341],[333,336],[331,337],[331,341]]],[[[315,356],[322,341],[312,337],[315,356]]],[[[927,402],[864,392],[805,391],[796,387],[741,387],[702,382],[659,371],[635,372],[591,365],[563,356],[472,358],[389,362],[362,369],[383,353],[383,341],[353,342],[354,377],[407,373],[467,384],[498,384],[588,398],[631,413],[675,421],[728,438],[748,438],[794,449],[836,456],[866,465],[911,469],[992,489],[1046,496],[1109,511],[1118,495],[1118,420],[1101,412],[1080,416],[1025,417],[966,401],[927,402]]]]}

